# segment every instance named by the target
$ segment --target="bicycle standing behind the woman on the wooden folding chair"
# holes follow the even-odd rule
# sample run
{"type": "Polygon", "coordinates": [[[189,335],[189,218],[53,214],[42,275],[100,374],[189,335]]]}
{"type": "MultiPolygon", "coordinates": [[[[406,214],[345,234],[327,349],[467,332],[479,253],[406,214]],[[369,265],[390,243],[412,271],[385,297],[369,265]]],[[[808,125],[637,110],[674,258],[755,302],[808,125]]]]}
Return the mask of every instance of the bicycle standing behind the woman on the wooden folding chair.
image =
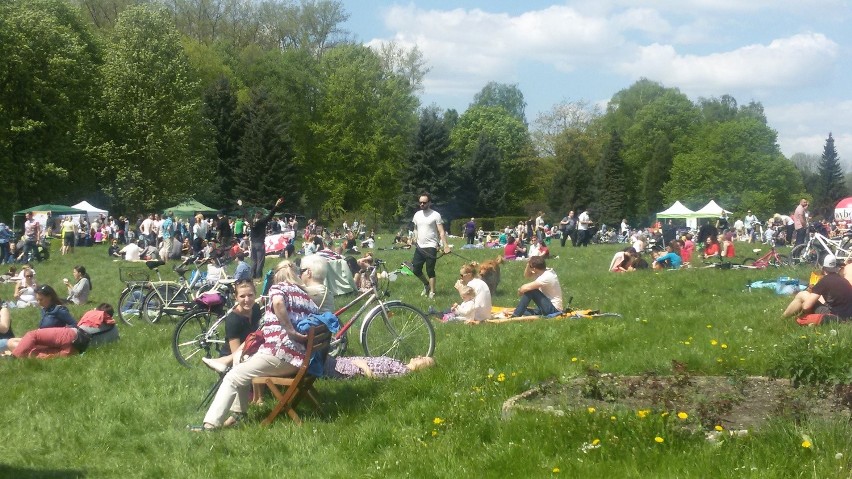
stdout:
{"type": "MultiPolygon", "coordinates": [[[[435,352],[435,330],[426,314],[402,301],[382,299],[389,295],[389,283],[401,274],[401,270],[379,272],[383,268],[384,262],[376,260],[365,273],[370,278],[370,288],[334,312],[340,317],[356,304],[364,303],[335,334],[330,354],[339,356],[346,351],[347,333],[361,318],[359,337],[366,356],[390,356],[407,362],[415,356],[431,356],[435,352]]],[[[261,297],[258,301],[264,299],[261,297]]],[[[187,314],[172,337],[172,352],[178,362],[192,367],[195,358],[200,362],[202,357],[219,356],[225,344],[225,318],[232,310],[233,307],[222,315],[213,310],[195,310],[187,314]]]]}

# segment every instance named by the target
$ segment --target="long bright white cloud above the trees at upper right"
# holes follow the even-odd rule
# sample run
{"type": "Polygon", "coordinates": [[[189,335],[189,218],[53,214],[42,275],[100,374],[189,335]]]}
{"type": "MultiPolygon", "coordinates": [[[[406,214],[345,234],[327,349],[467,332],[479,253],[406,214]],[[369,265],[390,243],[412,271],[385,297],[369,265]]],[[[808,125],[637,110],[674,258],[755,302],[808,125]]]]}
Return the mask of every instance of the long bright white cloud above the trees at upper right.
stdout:
{"type": "Polygon", "coordinates": [[[748,45],[709,55],[680,55],[671,45],[638,47],[636,58],[619,65],[631,77],[648,77],[693,94],[764,91],[813,85],[828,76],[838,45],[819,33],[748,45]]]}

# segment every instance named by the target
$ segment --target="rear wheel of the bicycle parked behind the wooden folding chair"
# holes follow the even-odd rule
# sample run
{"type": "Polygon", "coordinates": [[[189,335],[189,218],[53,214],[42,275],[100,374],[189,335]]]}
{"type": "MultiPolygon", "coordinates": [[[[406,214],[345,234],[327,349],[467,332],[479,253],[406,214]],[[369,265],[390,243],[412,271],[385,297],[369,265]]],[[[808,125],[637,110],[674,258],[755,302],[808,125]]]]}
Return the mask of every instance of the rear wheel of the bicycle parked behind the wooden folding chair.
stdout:
{"type": "Polygon", "coordinates": [[[225,345],[225,322],[210,329],[218,317],[207,311],[186,316],[172,337],[172,352],[178,362],[191,368],[201,364],[201,358],[219,357],[225,345]]]}

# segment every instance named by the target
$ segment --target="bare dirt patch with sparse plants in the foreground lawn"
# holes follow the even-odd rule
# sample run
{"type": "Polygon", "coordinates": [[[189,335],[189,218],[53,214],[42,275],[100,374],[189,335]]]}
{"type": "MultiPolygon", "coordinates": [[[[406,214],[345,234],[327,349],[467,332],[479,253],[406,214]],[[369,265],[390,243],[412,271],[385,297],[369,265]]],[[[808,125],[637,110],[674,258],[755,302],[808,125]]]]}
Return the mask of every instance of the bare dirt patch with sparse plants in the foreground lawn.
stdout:
{"type": "Polygon", "coordinates": [[[503,417],[518,410],[563,415],[572,411],[669,411],[698,418],[700,427],[759,429],[770,418],[849,418],[852,386],[793,387],[789,380],[761,376],[616,376],[590,373],[568,382],[550,381],[510,398],[503,417]]]}

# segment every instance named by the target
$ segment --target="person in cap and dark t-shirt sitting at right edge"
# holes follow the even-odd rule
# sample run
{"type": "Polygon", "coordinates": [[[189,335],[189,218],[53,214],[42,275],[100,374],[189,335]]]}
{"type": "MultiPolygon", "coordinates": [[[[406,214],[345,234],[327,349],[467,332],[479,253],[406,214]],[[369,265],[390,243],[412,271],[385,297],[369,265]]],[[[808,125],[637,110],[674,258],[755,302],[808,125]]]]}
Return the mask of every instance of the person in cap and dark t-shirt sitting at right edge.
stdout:
{"type": "Polygon", "coordinates": [[[802,291],[793,298],[784,316],[817,313],[852,318],[852,284],[838,274],[837,257],[827,255],[822,261],[822,271],[825,274],[810,291],[802,291]]]}

